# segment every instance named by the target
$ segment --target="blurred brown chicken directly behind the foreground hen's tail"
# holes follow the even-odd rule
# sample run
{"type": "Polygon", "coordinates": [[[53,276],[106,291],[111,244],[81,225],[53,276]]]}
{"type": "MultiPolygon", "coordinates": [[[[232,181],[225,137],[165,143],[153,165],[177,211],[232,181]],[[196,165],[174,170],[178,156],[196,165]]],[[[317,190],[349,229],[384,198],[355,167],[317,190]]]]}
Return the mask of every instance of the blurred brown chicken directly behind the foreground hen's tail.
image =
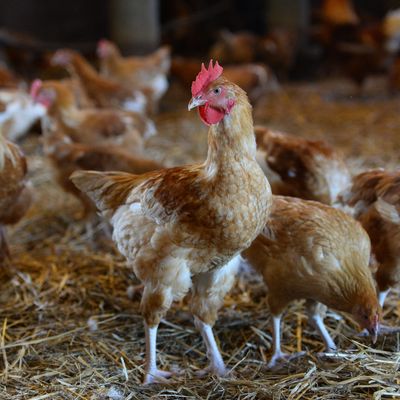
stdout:
{"type": "Polygon", "coordinates": [[[95,169],[98,171],[125,171],[142,174],[163,168],[156,161],[133,156],[121,147],[105,144],[74,143],[58,127],[43,132],[44,154],[47,155],[56,171],[59,185],[81,202],[81,218],[93,215],[95,207],[90,199],[71,182],[69,177],[74,171],[95,169]]]}

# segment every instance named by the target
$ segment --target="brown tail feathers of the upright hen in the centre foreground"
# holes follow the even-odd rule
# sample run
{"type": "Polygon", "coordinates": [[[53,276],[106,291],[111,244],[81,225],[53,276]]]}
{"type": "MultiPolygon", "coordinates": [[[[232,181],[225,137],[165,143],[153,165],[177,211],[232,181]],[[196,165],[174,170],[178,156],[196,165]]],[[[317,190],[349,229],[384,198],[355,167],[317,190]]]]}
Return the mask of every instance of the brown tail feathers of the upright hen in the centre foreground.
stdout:
{"type": "Polygon", "coordinates": [[[124,204],[132,189],[145,177],[124,172],[75,171],[70,179],[101,212],[106,213],[114,212],[124,204]]]}

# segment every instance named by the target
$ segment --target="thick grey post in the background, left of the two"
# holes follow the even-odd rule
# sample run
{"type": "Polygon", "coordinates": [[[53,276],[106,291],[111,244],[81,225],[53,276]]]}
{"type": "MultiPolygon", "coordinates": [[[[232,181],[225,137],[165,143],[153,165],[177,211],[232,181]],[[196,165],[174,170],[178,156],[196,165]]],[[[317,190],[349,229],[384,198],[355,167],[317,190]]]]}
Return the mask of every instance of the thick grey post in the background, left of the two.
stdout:
{"type": "Polygon", "coordinates": [[[111,0],[110,35],[127,52],[145,53],[160,44],[158,0],[111,0]]]}

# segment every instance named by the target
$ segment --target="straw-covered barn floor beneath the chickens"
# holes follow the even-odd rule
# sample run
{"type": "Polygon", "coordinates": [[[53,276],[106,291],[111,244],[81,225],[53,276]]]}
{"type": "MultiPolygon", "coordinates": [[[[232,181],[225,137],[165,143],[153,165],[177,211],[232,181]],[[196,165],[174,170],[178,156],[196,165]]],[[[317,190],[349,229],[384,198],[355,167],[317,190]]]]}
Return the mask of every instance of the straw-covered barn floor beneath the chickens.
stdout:
{"type": "MultiPolygon", "coordinates": [[[[324,138],[346,155],[354,173],[399,165],[400,98],[383,83],[368,82],[361,97],[342,81],[285,86],[255,108],[257,123],[324,138]]],[[[202,160],[206,129],[188,113],[188,95],[172,88],[157,119],[149,156],[167,165],[202,160]],[[175,110],[175,111],[173,111],[175,110]]],[[[159,330],[159,364],[183,367],[169,385],[143,387],[144,331],[137,284],[99,221],[82,222],[75,199],[55,184],[39,137],[21,145],[29,155],[36,199],[10,231],[14,260],[1,271],[0,399],[389,399],[400,396],[400,335],[373,347],[345,315],[326,321],[341,351],[318,356],[323,346],[307,325],[301,303],[283,322],[283,346],[306,355],[276,371],[270,355],[265,288],[241,277],[226,299],[215,331],[231,374],[199,379],[205,348],[188,307],[174,305],[159,330]]],[[[384,309],[386,324],[400,325],[399,292],[384,309]]]]}

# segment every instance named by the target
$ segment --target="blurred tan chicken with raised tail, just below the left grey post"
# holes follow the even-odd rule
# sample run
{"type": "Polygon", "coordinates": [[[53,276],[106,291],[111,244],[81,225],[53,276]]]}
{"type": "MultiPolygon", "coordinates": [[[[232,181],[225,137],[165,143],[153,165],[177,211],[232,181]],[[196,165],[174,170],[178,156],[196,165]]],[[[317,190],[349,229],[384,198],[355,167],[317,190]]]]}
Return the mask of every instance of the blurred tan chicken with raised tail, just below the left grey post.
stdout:
{"type": "Polygon", "coordinates": [[[158,103],[168,89],[167,75],[171,65],[168,46],[147,56],[123,57],[114,43],[103,39],[98,43],[97,55],[102,75],[137,87],[146,95],[150,111],[157,112],[158,103]]]}

